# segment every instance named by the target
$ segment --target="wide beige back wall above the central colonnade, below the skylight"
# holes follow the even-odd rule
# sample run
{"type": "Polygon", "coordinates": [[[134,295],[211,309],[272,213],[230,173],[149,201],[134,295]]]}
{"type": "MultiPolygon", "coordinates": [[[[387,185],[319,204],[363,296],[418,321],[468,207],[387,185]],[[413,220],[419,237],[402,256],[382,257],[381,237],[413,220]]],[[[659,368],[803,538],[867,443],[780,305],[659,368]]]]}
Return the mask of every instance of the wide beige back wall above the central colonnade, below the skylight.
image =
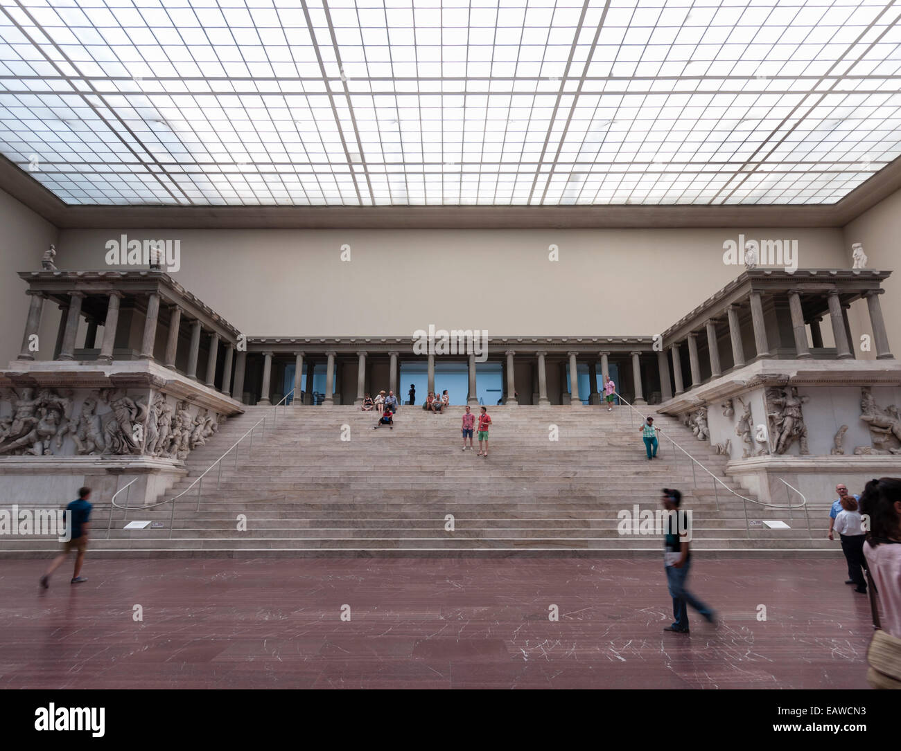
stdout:
{"type": "MultiPolygon", "coordinates": [[[[247,335],[653,335],[742,271],[723,263],[738,229],[125,231],[180,240],[177,281],[247,335]]],[[[741,231],[847,265],[841,229],[741,231]]],[[[120,234],[63,231],[60,267],[104,268],[120,234]]]]}

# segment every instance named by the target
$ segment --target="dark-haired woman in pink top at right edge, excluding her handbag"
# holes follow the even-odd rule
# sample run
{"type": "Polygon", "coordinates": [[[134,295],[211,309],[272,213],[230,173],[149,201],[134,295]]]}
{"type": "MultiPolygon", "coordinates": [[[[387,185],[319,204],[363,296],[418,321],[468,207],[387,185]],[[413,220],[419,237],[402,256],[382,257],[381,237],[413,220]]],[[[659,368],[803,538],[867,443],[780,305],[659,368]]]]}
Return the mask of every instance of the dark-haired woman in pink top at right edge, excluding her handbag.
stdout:
{"type": "Polygon", "coordinates": [[[901,478],[870,480],[860,512],[869,519],[863,554],[882,604],[882,629],[901,639],[901,478]]]}

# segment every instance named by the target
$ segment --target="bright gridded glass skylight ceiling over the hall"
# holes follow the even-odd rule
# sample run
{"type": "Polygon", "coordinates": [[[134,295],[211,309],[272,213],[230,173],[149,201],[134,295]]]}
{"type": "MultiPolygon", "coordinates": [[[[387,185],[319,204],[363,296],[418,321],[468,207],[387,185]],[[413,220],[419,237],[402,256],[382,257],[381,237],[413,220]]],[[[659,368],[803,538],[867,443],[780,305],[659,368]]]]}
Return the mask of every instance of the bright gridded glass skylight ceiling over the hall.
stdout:
{"type": "Polygon", "coordinates": [[[72,204],[811,204],[901,154],[901,6],[0,0],[72,204]]]}

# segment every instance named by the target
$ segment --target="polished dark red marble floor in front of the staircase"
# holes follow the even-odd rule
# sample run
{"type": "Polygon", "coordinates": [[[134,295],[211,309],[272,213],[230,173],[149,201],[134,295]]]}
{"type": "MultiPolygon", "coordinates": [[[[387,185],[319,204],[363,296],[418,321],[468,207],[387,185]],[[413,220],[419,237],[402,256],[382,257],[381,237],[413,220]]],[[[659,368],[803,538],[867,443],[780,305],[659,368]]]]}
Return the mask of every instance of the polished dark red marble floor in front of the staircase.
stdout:
{"type": "Polygon", "coordinates": [[[656,559],[88,559],[44,592],[45,565],[0,567],[4,688],[867,688],[843,559],[698,557],[723,624],[690,636],[656,559]]]}

